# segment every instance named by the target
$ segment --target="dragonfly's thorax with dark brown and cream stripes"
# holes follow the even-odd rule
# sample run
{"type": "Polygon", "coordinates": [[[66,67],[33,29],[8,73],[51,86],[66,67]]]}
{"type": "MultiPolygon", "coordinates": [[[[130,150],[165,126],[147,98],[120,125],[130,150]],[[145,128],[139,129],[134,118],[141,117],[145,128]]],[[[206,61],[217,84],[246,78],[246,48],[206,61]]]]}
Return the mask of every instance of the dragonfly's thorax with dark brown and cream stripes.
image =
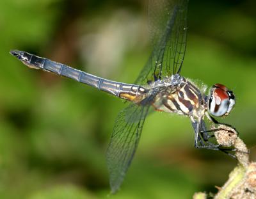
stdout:
{"type": "Polygon", "coordinates": [[[200,90],[179,74],[173,75],[168,80],[168,84],[162,81],[161,84],[166,86],[159,88],[154,99],[153,106],[156,111],[202,117],[205,113],[205,102],[200,90]]]}

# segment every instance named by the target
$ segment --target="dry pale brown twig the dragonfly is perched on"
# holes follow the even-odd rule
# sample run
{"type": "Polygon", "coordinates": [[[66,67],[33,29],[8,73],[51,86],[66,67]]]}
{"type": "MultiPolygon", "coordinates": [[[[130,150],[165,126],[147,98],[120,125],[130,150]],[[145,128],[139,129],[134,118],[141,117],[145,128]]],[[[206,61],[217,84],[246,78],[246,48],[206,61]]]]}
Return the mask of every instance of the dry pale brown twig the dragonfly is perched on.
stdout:
{"type": "MultiPolygon", "coordinates": [[[[236,129],[219,125],[214,132],[218,144],[223,147],[234,147],[238,164],[229,174],[227,182],[219,187],[214,199],[247,199],[256,198],[256,163],[249,161],[249,150],[239,138],[236,129]]],[[[193,199],[205,199],[207,193],[195,193],[193,199]]]]}

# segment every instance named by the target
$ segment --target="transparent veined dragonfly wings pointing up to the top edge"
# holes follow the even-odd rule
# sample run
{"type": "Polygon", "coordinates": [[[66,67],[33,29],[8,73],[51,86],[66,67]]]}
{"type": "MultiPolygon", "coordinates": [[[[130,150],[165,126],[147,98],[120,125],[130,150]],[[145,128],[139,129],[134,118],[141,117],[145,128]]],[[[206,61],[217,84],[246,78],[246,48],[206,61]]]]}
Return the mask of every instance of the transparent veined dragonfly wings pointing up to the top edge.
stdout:
{"type": "Polygon", "coordinates": [[[148,24],[153,52],[136,84],[179,73],[187,38],[188,0],[149,0],[148,24]]]}

